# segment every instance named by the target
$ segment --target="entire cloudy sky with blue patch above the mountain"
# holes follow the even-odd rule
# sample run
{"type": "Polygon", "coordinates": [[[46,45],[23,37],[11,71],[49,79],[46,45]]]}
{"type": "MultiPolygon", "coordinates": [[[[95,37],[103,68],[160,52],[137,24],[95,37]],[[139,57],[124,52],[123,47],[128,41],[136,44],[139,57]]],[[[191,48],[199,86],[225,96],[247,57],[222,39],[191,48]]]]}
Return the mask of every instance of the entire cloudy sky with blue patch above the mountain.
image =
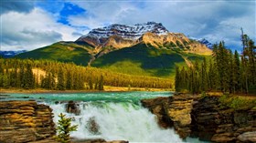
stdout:
{"type": "Polygon", "coordinates": [[[161,22],[170,32],[224,40],[240,50],[240,27],[255,41],[255,0],[1,0],[1,50],[74,41],[111,24],[161,22]]]}

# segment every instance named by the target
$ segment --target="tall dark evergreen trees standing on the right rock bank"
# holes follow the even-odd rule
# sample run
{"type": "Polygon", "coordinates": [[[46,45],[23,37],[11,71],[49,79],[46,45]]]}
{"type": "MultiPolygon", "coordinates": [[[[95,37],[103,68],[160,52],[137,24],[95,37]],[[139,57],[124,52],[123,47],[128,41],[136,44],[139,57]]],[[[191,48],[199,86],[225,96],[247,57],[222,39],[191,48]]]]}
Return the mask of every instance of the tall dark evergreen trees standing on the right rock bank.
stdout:
{"type": "Polygon", "coordinates": [[[232,53],[224,42],[213,46],[213,58],[196,61],[190,67],[176,66],[176,91],[201,93],[222,91],[229,93],[255,93],[256,50],[254,42],[243,35],[241,55],[232,53]]]}

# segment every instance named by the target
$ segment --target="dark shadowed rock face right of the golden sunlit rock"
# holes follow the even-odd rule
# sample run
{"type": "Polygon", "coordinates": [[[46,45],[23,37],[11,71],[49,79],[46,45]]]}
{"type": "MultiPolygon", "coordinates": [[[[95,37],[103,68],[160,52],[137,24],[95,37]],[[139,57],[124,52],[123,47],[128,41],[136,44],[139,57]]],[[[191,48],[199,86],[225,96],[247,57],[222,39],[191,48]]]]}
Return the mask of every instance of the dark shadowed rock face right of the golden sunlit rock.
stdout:
{"type": "Polygon", "coordinates": [[[215,142],[245,141],[246,137],[251,142],[256,139],[251,136],[251,132],[256,131],[256,110],[222,107],[219,97],[200,99],[193,107],[191,117],[194,121],[192,130],[199,138],[215,142]]]}

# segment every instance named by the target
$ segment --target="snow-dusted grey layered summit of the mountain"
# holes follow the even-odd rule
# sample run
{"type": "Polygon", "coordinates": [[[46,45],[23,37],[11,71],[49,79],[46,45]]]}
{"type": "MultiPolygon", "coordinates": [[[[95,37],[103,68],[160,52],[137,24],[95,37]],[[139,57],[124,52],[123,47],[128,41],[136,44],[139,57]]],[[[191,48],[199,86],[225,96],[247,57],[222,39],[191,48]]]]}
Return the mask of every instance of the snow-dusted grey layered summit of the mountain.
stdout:
{"type": "Polygon", "coordinates": [[[161,23],[156,22],[147,22],[136,25],[112,24],[111,26],[92,29],[89,34],[81,36],[77,41],[83,41],[86,37],[101,39],[110,36],[121,36],[123,39],[136,40],[147,32],[157,35],[165,35],[168,33],[168,30],[161,23]]]}

